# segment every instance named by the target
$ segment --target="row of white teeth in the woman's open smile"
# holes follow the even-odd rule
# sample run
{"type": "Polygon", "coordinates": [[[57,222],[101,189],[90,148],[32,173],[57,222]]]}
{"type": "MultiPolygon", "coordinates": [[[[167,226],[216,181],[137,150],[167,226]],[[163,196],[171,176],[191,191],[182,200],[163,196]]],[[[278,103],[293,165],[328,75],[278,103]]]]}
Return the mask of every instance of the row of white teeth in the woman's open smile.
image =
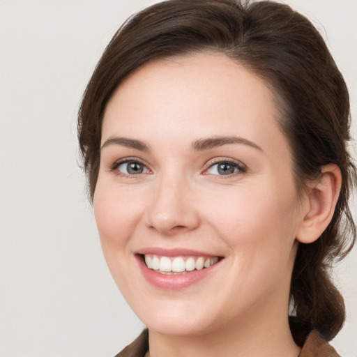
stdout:
{"type": "Polygon", "coordinates": [[[209,268],[210,266],[218,262],[218,257],[175,257],[174,259],[169,257],[160,257],[158,255],[145,255],[145,264],[148,268],[158,271],[162,274],[180,274],[188,271],[202,270],[203,268],[209,268]]]}

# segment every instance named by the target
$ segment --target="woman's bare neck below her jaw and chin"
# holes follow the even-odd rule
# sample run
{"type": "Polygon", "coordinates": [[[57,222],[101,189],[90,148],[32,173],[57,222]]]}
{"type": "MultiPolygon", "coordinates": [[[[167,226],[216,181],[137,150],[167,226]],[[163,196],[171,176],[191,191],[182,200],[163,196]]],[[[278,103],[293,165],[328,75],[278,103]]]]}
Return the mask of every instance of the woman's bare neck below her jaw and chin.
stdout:
{"type": "MultiPolygon", "coordinates": [[[[276,304],[273,304],[276,306],[276,304]]],[[[301,351],[291,336],[287,313],[268,306],[238,323],[202,335],[173,336],[149,330],[150,357],[297,357],[301,351]],[[280,312],[280,316],[277,313],[280,312]]],[[[257,307],[255,307],[257,312],[257,307]]]]}

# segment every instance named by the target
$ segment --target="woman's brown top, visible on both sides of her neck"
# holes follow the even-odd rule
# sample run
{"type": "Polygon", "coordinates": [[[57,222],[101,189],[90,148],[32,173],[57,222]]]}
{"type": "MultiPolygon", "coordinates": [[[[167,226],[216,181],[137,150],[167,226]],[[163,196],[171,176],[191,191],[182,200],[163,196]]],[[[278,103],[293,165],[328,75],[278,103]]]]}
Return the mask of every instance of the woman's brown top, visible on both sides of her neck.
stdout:
{"type": "MultiPolygon", "coordinates": [[[[115,357],[144,357],[149,349],[149,333],[144,330],[137,339],[129,344],[115,357]]],[[[340,357],[339,354],[326,342],[317,331],[307,336],[303,349],[298,357],[340,357]]]]}

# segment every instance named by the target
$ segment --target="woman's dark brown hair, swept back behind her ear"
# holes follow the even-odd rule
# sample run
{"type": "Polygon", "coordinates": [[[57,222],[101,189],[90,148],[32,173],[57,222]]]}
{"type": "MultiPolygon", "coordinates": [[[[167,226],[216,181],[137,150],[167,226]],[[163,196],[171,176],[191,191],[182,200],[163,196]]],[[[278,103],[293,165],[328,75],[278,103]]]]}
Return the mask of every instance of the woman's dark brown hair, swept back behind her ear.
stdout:
{"type": "Polygon", "coordinates": [[[342,328],[345,309],[330,269],[356,239],[348,206],[356,181],[347,151],[349,94],[324,39],[289,6],[273,1],[169,0],[128,19],[102,54],[79,108],[79,146],[91,202],[102,119],[116,88],[150,61],[196,52],[225,54],[264,79],[291,147],[299,195],[308,181],[319,178],[323,165],[340,167],[342,189],[331,223],[314,243],[299,244],[290,288],[296,343],[302,345],[312,329],[331,340],[342,328]]]}

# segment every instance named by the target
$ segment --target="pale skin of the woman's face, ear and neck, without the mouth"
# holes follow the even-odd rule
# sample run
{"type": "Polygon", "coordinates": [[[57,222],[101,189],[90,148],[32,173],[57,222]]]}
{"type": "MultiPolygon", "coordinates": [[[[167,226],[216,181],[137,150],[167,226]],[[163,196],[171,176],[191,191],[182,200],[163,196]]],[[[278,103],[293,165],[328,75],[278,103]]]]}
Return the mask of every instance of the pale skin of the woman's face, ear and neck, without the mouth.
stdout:
{"type": "Polygon", "coordinates": [[[298,356],[294,258],[330,222],[341,175],[326,165],[299,200],[278,113],[259,77],[212,53],[146,64],[109,101],[94,210],[114,280],[149,328],[148,356],[298,356]],[[222,259],[195,284],[160,289],[138,267],[147,247],[222,259]]]}

